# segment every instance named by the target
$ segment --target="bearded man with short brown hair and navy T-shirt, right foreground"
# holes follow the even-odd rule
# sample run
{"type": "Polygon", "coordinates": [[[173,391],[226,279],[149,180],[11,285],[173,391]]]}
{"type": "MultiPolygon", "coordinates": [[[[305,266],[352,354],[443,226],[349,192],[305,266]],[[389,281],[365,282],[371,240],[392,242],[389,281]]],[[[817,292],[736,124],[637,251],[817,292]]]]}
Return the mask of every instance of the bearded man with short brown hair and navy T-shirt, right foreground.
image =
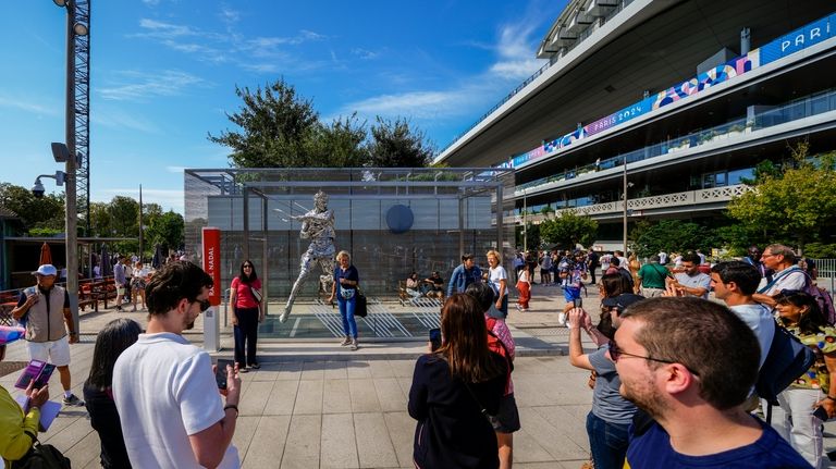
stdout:
{"type": "Polygon", "coordinates": [[[654,420],[634,434],[625,467],[811,467],[743,409],[760,350],[728,309],[693,297],[650,298],[620,320],[608,353],[620,393],[654,420]]]}

